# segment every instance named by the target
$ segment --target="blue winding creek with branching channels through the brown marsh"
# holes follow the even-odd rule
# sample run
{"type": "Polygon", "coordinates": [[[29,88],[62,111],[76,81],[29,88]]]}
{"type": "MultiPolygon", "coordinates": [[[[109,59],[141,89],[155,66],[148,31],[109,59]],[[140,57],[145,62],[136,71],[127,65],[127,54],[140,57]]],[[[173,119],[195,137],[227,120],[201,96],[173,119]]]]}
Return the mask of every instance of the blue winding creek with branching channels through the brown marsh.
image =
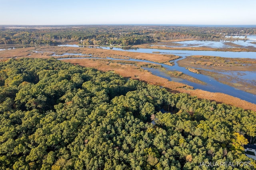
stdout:
{"type": "MultiPolygon", "coordinates": [[[[62,45],[64,46],[64,45],[62,45]]],[[[70,45],[69,45],[70,46],[70,45]]],[[[74,45],[72,45],[74,46],[74,45]]],[[[76,45],[76,47],[78,47],[78,45],[76,45]]],[[[211,56],[219,56],[219,57],[230,57],[230,58],[256,58],[256,52],[229,52],[229,51],[186,51],[186,50],[162,50],[162,49],[122,49],[122,48],[116,48],[116,47],[100,47],[102,49],[112,49],[112,50],[118,50],[118,51],[131,51],[131,52],[139,52],[139,53],[152,53],[153,51],[159,51],[160,54],[163,53],[168,53],[168,54],[174,54],[174,55],[178,55],[181,56],[182,58],[180,59],[184,59],[187,56],[190,55],[211,55],[211,56]]],[[[71,53],[65,53],[65,55],[81,55],[81,54],[71,54],[71,53]]],[[[55,56],[55,55],[54,55],[55,56]]],[[[60,56],[60,55],[58,55],[60,56]]],[[[83,57],[78,57],[78,59],[81,59],[83,57]]],[[[96,57],[84,57],[84,58],[94,58],[94,59],[99,59],[96,57]]],[[[68,59],[68,58],[62,58],[62,59],[68,59]]],[[[70,59],[74,59],[74,58],[70,58],[70,59]]],[[[100,58],[102,59],[102,58],[100,58]]],[[[107,59],[112,59],[112,60],[123,60],[123,59],[114,59],[114,58],[110,58],[107,57],[107,59]]],[[[146,61],[146,60],[140,60],[140,59],[129,59],[129,61],[142,61],[142,62],[147,62],[147,63],[154,63],[154,64],[158,64],[158,65],[162,65],[162,67],[166,68],[166,70],[170,70],[170,71],[181,71],[184,74],[187,74],[191,77],[194,77],[196,79],[199,79],[200,81],[203,81],[206,83],[206,85],[202,85],[202,84],[198,84],[198,83],[193,83],[190,82],[188,80],[185,79],[178,79],[178,78],[174,78],[174,77],[170,77],[170,75],[167,75],[165,73],[163,73],[162,71],[160,71],[159,69],[153,69],[153,68],[144,68],[150,72],[152,72],[152,74],[157,75],[159,77],[164,77],[168,80],[171,81],[177,81],[177,82],[181,82],[187,85],[191,85],[194,87],[194,89],[202,89],[205,91],[210,91],[210,92],[220,92],[220,93],[225,93],[228,95],[232,95],[234,97],[238,97],[240,99],[249,101],[251,103],[255,103],[256,104],[256,95],[252,94],[252,93],[247,93],[245,91],[242,90],[238,90],[234,87],[231,87],[229,85],[225,85],[223,83],[220,83],[218,81],[216,81],[215,79],[213,79],[212,77],[208,77],[206,75],[202,75],[202,74],[196,74],[196,73],[192,73],[190,71],[188,71],[188,69],[185,69],[184,67],[180,67],[177,64],[177,61],[180,59],[176,59],[175,61],[172,61],[175,63],[174,66],[169,66],[169,65],[165,65],[162,63],[156,63],[153,61],[146,61]]],[[[61,59],[60,59],[61,60],[61,59]]],[[[250,79],[256,79],[256,71],[249,71],[249,77],[250,79]]],[[[230,73],[232,74],[232,73],[230,73]]]]}

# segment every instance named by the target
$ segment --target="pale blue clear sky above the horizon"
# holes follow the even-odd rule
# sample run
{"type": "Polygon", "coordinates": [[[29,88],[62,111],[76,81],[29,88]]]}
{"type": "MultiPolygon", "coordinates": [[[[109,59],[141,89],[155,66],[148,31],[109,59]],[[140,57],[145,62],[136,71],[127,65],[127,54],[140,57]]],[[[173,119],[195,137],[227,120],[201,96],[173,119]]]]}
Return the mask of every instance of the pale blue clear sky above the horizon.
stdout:
{"type": "Polygon", "coordinates": [[[0,0],[0,25],[256,25],[256,0],[0,0]]]}

